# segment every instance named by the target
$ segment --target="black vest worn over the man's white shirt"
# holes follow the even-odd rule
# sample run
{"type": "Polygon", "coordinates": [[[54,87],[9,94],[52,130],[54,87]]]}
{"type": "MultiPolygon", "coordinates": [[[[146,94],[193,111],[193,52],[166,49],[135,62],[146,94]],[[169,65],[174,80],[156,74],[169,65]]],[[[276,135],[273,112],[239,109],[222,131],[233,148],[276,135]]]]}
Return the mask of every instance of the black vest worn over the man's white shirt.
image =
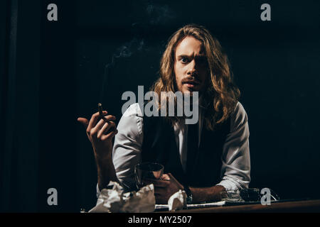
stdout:
{"type": "Polygon", "coordinates": [[[173,126],[164,117],[144,116],[142,162],[161,163],[164,165],[164,172],[171,172],[183,185],[191,187],[213,186],[221,180],[221,155],[228,133],[230,133],[230,118],[217,126],[215,131],[208,131],[203,125],[201,143],[194,159],[193,172],[187,176],[181,165],[173,126]]]}

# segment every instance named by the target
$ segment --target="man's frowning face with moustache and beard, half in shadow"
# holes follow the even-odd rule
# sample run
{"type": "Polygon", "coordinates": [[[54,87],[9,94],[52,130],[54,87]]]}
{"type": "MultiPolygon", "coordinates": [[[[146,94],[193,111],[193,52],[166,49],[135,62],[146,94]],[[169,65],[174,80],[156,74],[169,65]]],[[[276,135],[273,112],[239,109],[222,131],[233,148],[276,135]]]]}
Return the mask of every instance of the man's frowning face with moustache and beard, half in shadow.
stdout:
{"type": "Polygon", "coordinates": [[[176,47],[174,73],[178,91],[203,92],[208,78],[208,60],[201,41],[187,36],[176,47]]]}

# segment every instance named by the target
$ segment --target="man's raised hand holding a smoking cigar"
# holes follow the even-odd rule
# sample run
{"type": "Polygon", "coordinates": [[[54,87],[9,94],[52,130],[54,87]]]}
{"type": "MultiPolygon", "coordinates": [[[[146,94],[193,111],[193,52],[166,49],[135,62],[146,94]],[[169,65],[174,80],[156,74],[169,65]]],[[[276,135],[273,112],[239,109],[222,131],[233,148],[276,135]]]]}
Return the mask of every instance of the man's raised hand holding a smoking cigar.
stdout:
{"type": "Polygon", "coordinates": [[[99,112],[92,114],[90,121],[86,118],[78,118],[78,121],[85,126],[87,138],[92,144],[95,157],[99,160],[103,160],[111,155],[112,138],[117,134],[116,125],[113,122],[115,116],[107,115],[107,111],[103,111],[103,115],[104,117],[100,121],[98,121],[100,118],[99,112]],[[110,129],[112,131],[107,133],[110,129]]]}

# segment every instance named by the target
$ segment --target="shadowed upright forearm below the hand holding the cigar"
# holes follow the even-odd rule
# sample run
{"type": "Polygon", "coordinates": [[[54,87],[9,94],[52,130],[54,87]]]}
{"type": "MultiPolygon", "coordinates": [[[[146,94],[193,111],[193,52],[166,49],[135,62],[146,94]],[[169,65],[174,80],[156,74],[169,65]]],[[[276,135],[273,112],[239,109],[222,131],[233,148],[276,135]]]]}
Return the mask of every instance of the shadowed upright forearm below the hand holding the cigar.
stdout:
{"type": "Polygon", "coordinates": [[[97,163],[97,182],[100,190],[106,188],[110,180],[119,182],[114,170],[111,155],[110,157],[105,157],[103,159],[95,157],[95,160],[97,163]]]}

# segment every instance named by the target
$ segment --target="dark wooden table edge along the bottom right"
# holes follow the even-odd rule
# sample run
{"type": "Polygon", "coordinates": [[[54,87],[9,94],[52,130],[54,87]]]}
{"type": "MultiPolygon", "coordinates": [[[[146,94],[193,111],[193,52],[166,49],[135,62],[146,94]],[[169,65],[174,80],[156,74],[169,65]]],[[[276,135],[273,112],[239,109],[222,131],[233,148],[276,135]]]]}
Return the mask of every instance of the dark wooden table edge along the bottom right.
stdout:
{"type": "MultiPolygon", "coordinates": [[[[168,212],[168,211],[166,211],[168,212]]],[[[320,212],[320,199],[303,201],[277,201],[270,205],[246,204],[236,206],[215,206],[199,209],[171,211],[174,213],[243,213],[243,212],[320,212]]]]}

